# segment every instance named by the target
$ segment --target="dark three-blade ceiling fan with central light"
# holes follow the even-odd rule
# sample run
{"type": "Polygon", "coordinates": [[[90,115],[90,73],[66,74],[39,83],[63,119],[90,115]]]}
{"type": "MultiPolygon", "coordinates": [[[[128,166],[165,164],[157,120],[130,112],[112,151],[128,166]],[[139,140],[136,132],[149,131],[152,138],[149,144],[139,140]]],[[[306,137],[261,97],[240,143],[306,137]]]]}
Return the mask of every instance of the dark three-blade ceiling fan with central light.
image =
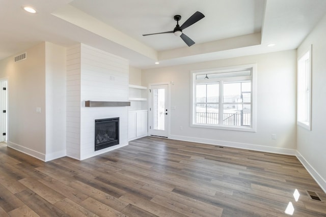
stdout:
{"type": "Polygon", "coordinates": [[[191,38],[187,37],[185,34],[182,33],[182,30],[186,27],[191,26],[192,24],[198,22],[199,20],[205,17],[204,14],[200,13],[199,11],[195,12],[191,17],[189,17],[181,26],[179,25],[179,20],[181,20],[180,15],[175,15],[174,20],[177,21],[177,25],[173,29],[173,31],[163,32],[163,33],[152,33],[152,34],[145,34],[143,36],[150,36],[150,35],[157,35],[157,34],[165,34],[165,33],[173,33],[175,36],[180,36],[180,38],[190,47],[195,42],[191,40],[191,38]]]}

